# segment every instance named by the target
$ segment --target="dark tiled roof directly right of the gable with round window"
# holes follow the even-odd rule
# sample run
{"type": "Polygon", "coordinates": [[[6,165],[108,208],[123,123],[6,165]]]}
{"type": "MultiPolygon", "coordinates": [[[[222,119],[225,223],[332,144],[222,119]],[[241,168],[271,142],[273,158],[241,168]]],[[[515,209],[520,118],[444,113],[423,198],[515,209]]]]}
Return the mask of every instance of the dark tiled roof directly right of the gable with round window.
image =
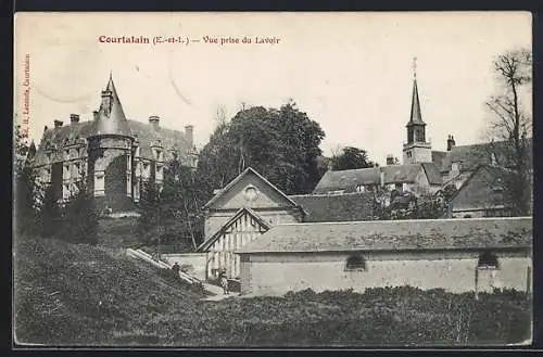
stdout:
{"type": "Polygon", "coordinates": [[[371,219],[371,193],[290,195],[306,212],[304,221],[353,221],[371,219]]]}

